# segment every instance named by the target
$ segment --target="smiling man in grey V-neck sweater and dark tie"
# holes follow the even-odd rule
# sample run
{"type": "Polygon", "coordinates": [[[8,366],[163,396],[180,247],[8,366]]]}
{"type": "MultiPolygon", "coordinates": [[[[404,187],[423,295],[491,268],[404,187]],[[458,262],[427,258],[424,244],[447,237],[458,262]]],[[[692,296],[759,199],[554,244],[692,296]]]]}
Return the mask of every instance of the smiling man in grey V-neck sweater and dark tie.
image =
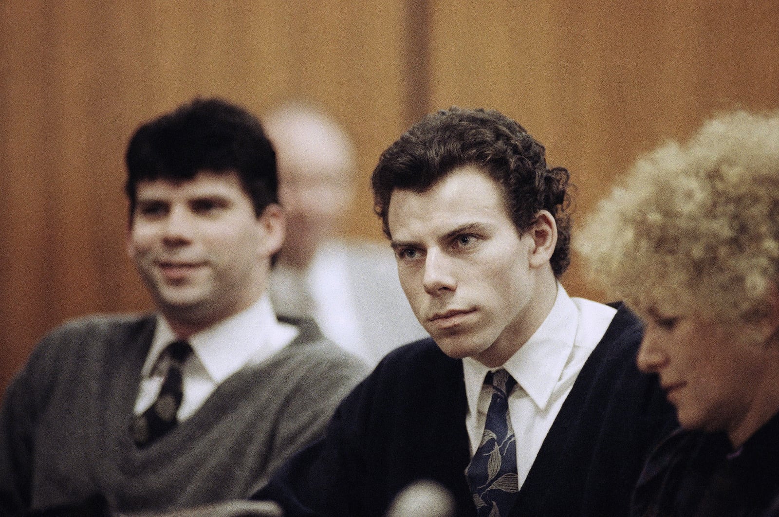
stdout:
{"type": "Polygon", "coordinates": [[[126,163],[127,248],[157,311],[80,318],[37,346],[0,414],[2,515],[246,497],[365,375],[273,311],[284,212],[252,114],[194,100],[142,125],[126,163]]]}

